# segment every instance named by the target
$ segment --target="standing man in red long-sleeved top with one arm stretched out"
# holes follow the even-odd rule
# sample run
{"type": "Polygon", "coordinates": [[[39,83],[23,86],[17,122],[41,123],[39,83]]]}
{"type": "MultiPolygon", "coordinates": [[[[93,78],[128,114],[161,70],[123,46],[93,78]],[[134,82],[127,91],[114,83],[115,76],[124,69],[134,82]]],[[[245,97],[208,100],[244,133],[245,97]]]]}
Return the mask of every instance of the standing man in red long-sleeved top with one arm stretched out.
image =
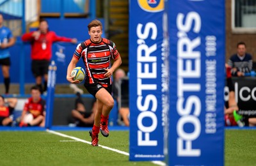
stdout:
{"type": "Polygon", "coordinates": [[[77,43],[77,39],[57,36],[54,31],[49,31],[47,21],[42,19],[38,30],[23,34],[22,40],[31,43],[31,70],[36,79],[36,85],[40,87],[41,93],[43,93],[47,91],[48,66],[52,57],[52,43],[56,41],[77,43]],[[43,79],[44,87],[42,86],[43,79]]]}

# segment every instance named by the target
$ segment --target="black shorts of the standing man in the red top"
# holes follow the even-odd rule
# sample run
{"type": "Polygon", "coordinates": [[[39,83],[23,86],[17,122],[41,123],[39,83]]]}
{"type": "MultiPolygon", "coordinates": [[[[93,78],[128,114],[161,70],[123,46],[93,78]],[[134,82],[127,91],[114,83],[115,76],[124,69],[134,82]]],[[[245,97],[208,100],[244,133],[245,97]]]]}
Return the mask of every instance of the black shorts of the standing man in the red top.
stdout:
{"type": "Polygon", "coordinates": [[[48,73],[50,61],[47,60],[32,60],[31,70],[34,77],[43,76],[48,73]]]}

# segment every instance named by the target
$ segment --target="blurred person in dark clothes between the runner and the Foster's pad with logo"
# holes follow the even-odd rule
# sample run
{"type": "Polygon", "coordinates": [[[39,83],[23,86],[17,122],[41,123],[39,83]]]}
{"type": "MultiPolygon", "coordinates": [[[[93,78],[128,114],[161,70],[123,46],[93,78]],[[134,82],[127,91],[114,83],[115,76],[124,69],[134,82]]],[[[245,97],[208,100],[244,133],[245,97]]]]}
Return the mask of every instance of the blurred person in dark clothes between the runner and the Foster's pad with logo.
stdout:
{"type": "Polygon", "coordinates": [[[129,99],[122,100],[121,94],[121,82],[120,79],[126,77],[124,70],[118,68],[115,72],[115,80],[113,82],[113,98],[118,104],[118,113],[122,117],[122,122],[125,126],[130,125],[130,111],[129,111],[129,99]]]}

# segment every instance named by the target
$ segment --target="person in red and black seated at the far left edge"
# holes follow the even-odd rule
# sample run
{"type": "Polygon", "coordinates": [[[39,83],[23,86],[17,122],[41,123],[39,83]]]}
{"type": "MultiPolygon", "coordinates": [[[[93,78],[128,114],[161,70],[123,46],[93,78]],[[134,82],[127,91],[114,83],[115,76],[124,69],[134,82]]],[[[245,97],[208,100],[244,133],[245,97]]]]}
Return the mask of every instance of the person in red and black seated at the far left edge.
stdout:
{"type": "Polygon", "coordinates": [[[12,113],[17,104],[17,98],[6,98],[0,95],[0,126],[12,126],[12,113]]]}

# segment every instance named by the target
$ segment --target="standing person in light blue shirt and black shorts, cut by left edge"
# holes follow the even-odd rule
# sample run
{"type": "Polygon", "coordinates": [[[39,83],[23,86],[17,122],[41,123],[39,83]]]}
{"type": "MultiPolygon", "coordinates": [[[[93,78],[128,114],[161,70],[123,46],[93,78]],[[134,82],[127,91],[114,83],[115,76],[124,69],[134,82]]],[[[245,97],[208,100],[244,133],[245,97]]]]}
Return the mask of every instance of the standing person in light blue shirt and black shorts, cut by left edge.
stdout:
{"type": "Polygon", "coordinates": [[[0,14],[0,65],[4,77],[5,94],[9,93],[10,89],[10,51],[9,47],[15,44],[15,38],[12,36],[12,31],[3,26],[3,15],[0,14]]]}

